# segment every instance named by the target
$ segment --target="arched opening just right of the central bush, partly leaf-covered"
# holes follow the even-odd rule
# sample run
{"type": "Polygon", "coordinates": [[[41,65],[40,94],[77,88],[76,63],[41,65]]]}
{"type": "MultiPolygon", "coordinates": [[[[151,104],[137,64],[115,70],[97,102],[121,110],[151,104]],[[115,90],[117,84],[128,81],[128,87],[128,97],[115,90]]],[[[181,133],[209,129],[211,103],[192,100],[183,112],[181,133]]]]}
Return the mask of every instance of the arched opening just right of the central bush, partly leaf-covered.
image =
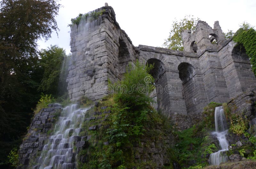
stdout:
{"type": "Polygon", "coordinates": [[[156,89],[150,94],[150,97],[152,97],[156,102],[156,104],[153,104],[152,106],[158,110],[164,109],[164,104],[161,101],[164,98],[168,98],[168,96],[165,96],[166,93],[163,92],[163,86],[166,85],[166,76],[164,76],[164,63],[158,59],[152,58],[148,59],[147,64],[154,65],[153,69],[149,72],[149,74],[154,77],[156,86],[156,89]]]}

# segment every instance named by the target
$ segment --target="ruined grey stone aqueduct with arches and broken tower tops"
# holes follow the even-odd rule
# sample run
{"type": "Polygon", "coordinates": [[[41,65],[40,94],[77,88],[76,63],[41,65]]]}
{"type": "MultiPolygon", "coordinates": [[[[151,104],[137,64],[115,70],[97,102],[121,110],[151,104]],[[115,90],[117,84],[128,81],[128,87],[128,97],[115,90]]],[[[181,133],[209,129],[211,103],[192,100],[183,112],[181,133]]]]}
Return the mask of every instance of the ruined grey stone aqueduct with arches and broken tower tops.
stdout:
{"type": "Polygon", "coordinates": [[[227,102],[256,79],[243,46],[226,40],[219,22],[198,21],[196,31],[183,31],[184,51],[139,45],[134,47],[116,22],[112,7],[90,24],[71,26],[72,61],[67,78],[71,100],[105,96],[108,79],[121,78],[129,62],[154,63],[157,105],[166,116],[187,128],[200,119],[209,102],[227,102]],[[212,41],[215,43],[212,43],[212,41]],[[162,90],[162,91],[161,91],[162,90]]]}

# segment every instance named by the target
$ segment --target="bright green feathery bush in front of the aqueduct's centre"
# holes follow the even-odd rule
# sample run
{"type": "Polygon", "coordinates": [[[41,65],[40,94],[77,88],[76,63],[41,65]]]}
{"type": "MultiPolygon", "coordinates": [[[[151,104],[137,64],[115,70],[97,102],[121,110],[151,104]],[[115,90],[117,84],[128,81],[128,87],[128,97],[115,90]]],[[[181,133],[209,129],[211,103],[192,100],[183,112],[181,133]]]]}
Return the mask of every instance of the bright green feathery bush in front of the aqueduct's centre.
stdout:
{"type": "Polygon", "coordinates": [[[115,101],[129,107],[131,111],[143,110],[148,106],[153,101],[148,94],[155,88],[154,78],[148,73],[152,68],[153,65],[145,66],[139,61],[135,63],[134,68],[129,64],[123,80],[113,85],[115,101]]]}

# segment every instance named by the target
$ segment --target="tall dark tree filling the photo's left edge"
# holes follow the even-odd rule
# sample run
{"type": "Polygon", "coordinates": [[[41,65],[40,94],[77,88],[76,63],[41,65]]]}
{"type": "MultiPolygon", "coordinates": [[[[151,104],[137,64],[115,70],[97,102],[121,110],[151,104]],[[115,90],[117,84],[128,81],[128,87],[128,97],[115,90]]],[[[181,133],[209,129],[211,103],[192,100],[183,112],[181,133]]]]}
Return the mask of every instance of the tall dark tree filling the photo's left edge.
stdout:
{"type": "MultiPolygon", "coordinates": [[[[0,164],[20,144],[30,123],[31,107],[42,72],[38,67],[38,39],[57,31],[54,0],[2,0],[0,2],[0,164]]],[[[2,165],[0,165],[0,168],[2,165]]]]}

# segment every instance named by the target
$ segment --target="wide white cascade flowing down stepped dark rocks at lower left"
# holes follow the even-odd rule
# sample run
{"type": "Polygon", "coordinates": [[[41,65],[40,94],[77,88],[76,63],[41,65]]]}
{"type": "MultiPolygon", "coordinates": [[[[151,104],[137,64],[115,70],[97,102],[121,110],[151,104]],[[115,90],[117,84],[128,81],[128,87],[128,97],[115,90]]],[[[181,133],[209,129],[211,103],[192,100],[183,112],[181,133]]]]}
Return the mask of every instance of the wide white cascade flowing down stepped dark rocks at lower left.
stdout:
{"type": "Polygon", "coordinates": [[[84,114],[89,108],[78,109],[73,104],[63,108],[56,122],[53,135],[49,137],[48,143],[44,145],[39,165],[34,169],[75,169],[76,148],[75,143],[81,141],[79,136],[84,114]]]}

